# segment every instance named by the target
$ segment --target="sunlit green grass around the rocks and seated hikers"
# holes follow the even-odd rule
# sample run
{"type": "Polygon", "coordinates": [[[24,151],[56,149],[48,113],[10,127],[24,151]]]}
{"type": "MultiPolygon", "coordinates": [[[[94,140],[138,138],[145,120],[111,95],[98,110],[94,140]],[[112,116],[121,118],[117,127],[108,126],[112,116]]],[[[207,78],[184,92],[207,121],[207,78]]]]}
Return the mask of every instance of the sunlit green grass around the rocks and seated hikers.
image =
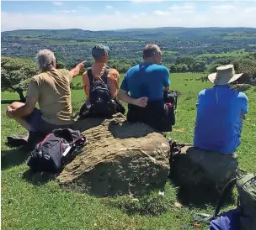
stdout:
{"type": "MultiPolygon", "coordinates": [[[[172,74],[172,88],[182,91],[177,109],[177,124],[168,136],[179,142],[191,143],[195,124],[195,102],[198,92],[211,83],[196,81],[200,74],[172,74]]],[[[121,76],[122,77],[122,76],[121,76]]],[[[75,81],[80,81],[79,77],[75,81]]],[[[249,114],[244,122],[242,144],[237,150],[240,166],[256,171],[256,101],[255,89],[248,90],[249,114]]],[[[24,133],[24,128],[8,119],[5,110],[8,102],[18,100],[18,95],[2,92],[2,229],[181,229],[191,221],[191,212],[211,213],[209,204],[201,206],[174,206],[179,202],[177,188],[167,183],[165,195],[139,200],[129,196],[96,198],[72,191],[62,191],[56,181],[26,180],[23,177],[28,167],[24,164],[27,154],[5,145],[9,134],[24,133]],[[155,214],[154,216],[147,215],[155,214]]],[[[77,112],[83,104],[83,90],[72,91],[72,106],[77,112]]],[[[232,206],[227,206],[231,208],[232,206]]],[[[207,229],[202,226],[200,229],[207,229]]]]}

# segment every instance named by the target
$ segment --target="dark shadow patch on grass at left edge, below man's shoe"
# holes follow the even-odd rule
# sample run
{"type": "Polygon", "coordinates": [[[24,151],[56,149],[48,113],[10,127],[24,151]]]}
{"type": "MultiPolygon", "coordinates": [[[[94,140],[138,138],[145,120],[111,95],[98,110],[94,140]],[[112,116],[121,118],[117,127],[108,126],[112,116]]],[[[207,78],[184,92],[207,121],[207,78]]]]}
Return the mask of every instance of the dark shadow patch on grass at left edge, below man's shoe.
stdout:
{"type": "Polygon", "coordinates": [[[28,158],[28,152],[22,152],[19,149],[8,149],[1,151],[1,167],[6,170],[10,167],[21,165],[28,158]]]}

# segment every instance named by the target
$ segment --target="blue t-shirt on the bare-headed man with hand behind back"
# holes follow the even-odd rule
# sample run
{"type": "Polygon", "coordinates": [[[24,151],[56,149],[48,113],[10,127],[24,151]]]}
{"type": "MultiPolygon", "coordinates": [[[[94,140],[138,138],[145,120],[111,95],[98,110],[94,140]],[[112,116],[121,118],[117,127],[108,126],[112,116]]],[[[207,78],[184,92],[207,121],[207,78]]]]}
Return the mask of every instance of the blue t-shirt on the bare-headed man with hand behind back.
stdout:
{"type": "Polygon", "coordinates": [[[141,63],[125,74],[120,88],[131,97],[148,97],[148,101],[163,100],[163,86],[169,86],[169,71],[163,65],[141,63]]]}

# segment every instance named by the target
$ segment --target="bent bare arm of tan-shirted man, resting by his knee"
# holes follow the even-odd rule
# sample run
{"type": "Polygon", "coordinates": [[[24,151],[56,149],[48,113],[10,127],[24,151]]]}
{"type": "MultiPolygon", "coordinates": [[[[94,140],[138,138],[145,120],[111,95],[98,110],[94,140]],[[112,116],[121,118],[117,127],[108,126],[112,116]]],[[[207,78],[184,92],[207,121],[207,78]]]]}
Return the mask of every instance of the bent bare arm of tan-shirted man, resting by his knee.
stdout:
{"type": "Polygon", "coordinates": [[[27,101],[21,107],[13,108],[8,106],[6,112],[7,116],[9,118],[22,118],[26,115],[29,115],[34,111],[36,102],[38,102],[38,98],[31,97],[27,98],[27,101]]]}

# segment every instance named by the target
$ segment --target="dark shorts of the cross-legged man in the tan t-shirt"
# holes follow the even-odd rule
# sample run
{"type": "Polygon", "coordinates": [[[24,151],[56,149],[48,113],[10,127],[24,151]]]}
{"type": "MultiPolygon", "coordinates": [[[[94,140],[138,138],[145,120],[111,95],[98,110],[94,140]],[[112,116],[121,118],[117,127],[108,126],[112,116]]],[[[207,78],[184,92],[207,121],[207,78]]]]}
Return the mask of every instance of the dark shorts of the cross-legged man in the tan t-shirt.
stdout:
{"type": "Polygon", "coordinates": [[[30,130],[32,132],[39,132],[42,134],[48,134],[51,133],[52,130],[57,128],[70,128],[71,125],[56,125],[45,122],[45,120],[42,119],[42,114],[39,109],[35,108],[33,112],[31,112],[29,115],[23,117],[24,121],[29,123],[30,130]]]}

